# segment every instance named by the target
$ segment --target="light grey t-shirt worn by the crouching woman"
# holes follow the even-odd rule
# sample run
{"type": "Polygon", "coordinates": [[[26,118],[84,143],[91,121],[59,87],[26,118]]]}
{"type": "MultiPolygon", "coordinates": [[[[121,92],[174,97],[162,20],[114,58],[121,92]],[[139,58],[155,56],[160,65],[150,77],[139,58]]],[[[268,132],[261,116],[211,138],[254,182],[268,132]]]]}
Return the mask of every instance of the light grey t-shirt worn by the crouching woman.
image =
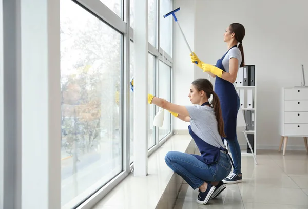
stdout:
{"type": "Polygon", "coordinates": [[[206,105],[185,107],[190,116],[191,130],[206,143],[218,148],[225,148],[218,132],[218,122],[214,109],[206,105]]]}

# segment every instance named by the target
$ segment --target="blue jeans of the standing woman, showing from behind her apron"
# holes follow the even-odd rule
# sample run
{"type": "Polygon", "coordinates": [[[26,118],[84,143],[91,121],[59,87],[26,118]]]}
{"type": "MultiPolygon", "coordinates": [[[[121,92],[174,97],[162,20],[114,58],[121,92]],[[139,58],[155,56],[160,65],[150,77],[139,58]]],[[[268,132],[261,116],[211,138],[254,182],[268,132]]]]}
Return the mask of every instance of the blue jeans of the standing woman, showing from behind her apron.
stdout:
{"type": "MultiPolygon", "coordinates": [[[[240,97],[237,95],[237,101],[238,101],[238,111],[240,109],[240,97]]],[[[230,153],[232,155],[232,160],[233,160],[233,164],[234,164],[234,170],[233,173],[235,174],[241,174],[241,160],[242,160],[242,156],[241,156],[241,148],[239,145],[239,141],[237,139],[237,135],[234,139],[226,139],[229,145],[229,149],[230,149],[230,153]]]]}

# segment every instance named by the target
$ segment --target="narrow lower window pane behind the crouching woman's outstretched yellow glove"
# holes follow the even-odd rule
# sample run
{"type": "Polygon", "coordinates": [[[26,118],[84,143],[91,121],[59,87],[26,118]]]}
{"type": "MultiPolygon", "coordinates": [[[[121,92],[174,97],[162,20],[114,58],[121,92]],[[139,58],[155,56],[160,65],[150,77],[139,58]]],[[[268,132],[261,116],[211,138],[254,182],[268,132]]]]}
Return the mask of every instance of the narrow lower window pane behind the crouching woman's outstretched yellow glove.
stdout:
{"type": "MultiPolygon", "coordinates": [[[[156,77],[156,58],[148,54],[148,93],[155,95],[155,77],[156,77]]],[[[155,116],[155,105],[148,104],[148,149],[156,144],[156,128],[153,126],[155,116]]]]}

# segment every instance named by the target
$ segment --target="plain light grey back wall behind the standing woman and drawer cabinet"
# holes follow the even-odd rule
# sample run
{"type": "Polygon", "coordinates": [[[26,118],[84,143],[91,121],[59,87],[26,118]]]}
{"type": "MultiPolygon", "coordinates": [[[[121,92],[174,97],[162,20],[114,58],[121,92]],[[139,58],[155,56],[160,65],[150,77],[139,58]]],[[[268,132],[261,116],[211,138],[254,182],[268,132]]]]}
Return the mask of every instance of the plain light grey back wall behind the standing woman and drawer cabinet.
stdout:
{"type": "MultiPolygon", "coordinates": [[[[202,61],[216,63],[225,53],[227,47],[223,42],[223,33],[230,23],[239,22],[246,29],[243,40],[245,63],[256,65],[257,148],[278,148],[280,136],[277,107],[280,105],[280,89],[300,85],[301,64],[306,67],[308,74],[306,8],[308,1],[303,0],[283,3],[279,0],[196,1],[195,30],[190,28],[190,34],[187,35],[195,34],[194,40],[190,37],[188,40],[194,42],[194,50],[202,61]]],[[[191,6],[186,9],[183,5],[180,11],[181,15],[186,12],[194,14],[191,6]]],[[[178,66],[187,63],[177,56],[174,59],[178,66]]],[[[195,67],[194,71],[195,79],[207,78],[201,69],[195,67]]],[[[180,91],[178,87],[176,85],[175,90],[180,91]]],[[[180,94],[178,92],[175,96],[180,97],[180,94]]],[[[240,143],[245,144],[245,141],[241,140],[240,143]]],[[[303,139],[290,138],[288,149],[291,148],[304,149],[303,139]]]]}

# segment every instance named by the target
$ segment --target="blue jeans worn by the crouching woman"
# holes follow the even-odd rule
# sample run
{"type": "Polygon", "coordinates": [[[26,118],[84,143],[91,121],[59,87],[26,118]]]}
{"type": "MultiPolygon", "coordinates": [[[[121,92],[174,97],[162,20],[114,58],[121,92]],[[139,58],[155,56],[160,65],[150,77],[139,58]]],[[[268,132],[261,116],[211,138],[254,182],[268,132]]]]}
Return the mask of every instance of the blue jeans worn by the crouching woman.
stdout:
{"type": "Polygon", "coordinates": [[[204,182],[221,181],[231,171],[231,161],[227,154],[220,152],[216,163],[208,165],[195,156],[179,151],[169,151],[165,157],[166,164],[179,174],[193,189],[204,182]]]}

